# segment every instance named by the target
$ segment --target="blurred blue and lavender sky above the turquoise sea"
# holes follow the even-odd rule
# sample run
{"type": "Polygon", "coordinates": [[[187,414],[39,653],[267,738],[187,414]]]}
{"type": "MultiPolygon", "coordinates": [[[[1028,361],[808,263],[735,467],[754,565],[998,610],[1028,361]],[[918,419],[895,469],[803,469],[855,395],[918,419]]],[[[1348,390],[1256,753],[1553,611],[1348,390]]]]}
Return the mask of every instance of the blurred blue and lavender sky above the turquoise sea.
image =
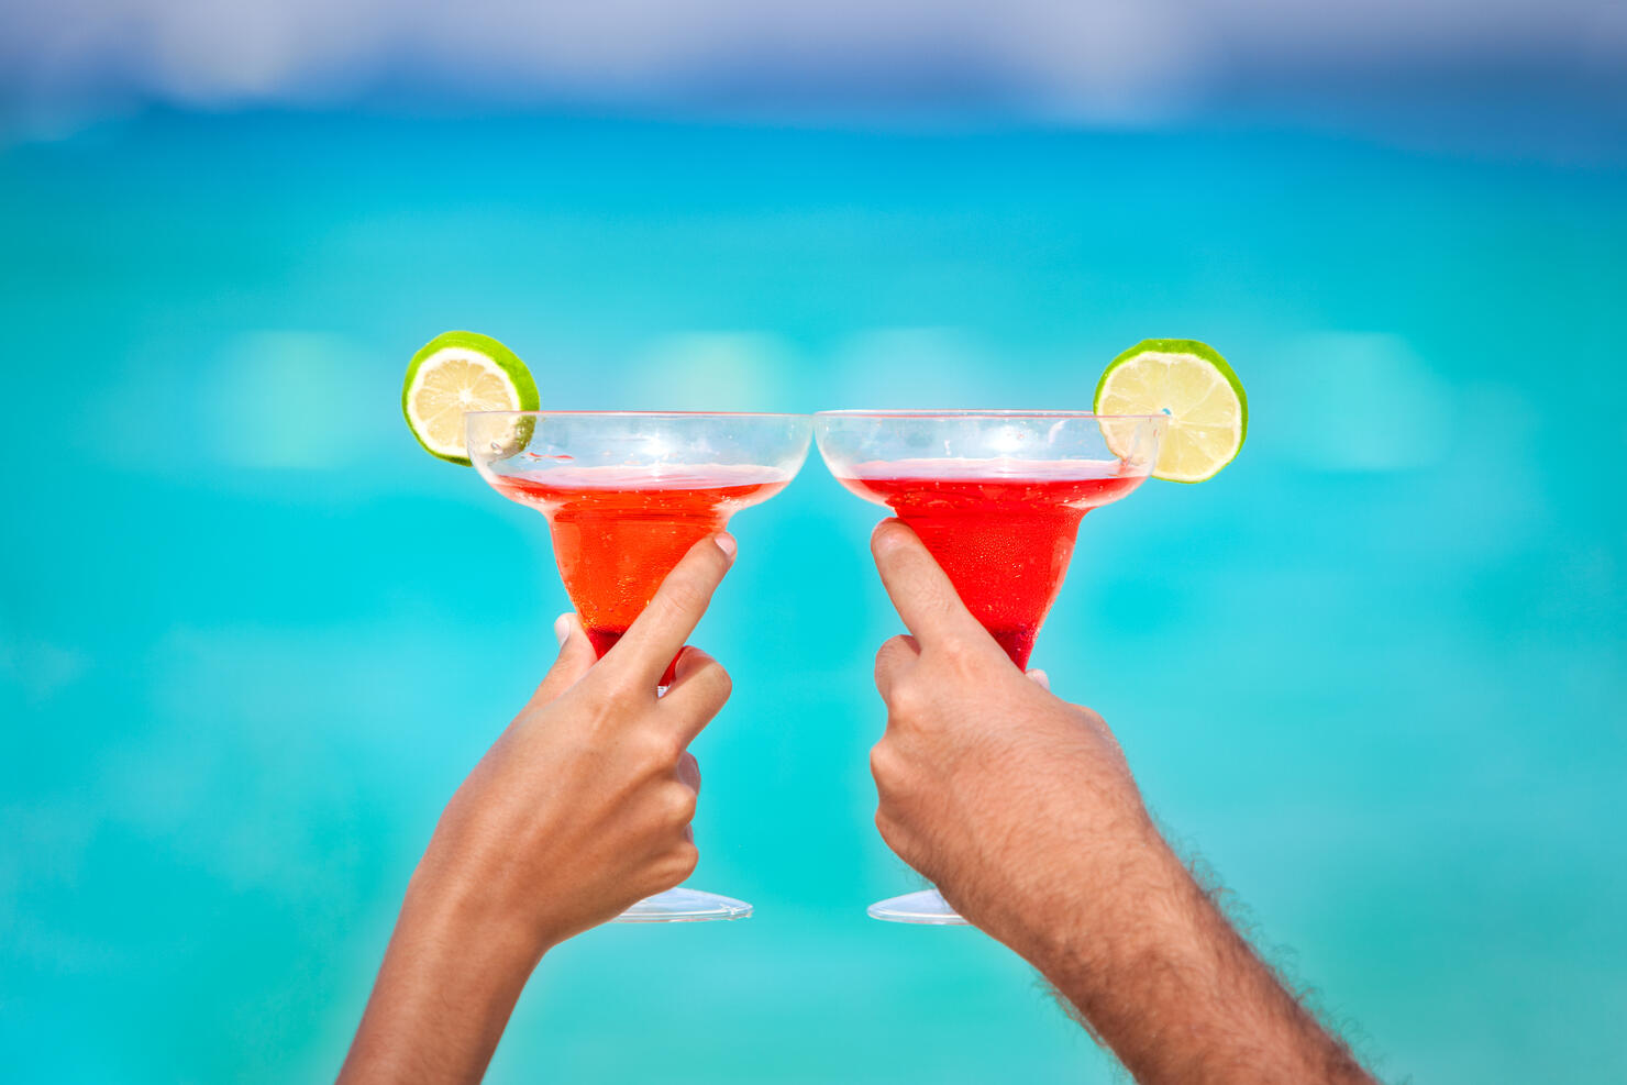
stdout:
{"type": "Polygon", "coordinates": [[[1604,150],[1601,0],[0,0],[0,124],[148,106],[589,109],[771,122],[1197,120],[1604,150]]]}

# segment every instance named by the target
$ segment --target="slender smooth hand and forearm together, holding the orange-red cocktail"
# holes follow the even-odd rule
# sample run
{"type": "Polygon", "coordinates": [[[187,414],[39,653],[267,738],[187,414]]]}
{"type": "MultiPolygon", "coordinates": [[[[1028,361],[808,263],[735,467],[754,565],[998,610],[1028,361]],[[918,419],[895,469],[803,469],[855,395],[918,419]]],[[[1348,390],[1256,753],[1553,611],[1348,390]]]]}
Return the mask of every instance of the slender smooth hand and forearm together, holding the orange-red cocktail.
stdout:
{"type": "Polygon", "coordinates": [[[478,1082],[543,953],[695,869],[687,747],[729,675],[683,641],[734,551],[727,534],[696,543],[597,664],[574,615],[560,618],[558,660],[412,875],[342,1085],[478,1082]]]}

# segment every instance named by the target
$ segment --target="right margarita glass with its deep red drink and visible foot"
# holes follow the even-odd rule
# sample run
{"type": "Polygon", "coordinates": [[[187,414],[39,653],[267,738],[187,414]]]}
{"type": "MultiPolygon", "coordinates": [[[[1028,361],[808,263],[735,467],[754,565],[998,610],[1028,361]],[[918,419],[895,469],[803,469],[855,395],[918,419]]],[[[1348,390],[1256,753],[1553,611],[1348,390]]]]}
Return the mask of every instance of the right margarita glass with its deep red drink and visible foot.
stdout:
{"type": "MultiPolygon", "coordinates": [[[[833,410],[814,415],[814,436],[836,480],[914,529],[966,608],[1027,667],[1079,522],[1145,481],[1167,425],[1165,415],[833,410]]],[[[937,890],[869,913],[965,922],[937,890]]]]}

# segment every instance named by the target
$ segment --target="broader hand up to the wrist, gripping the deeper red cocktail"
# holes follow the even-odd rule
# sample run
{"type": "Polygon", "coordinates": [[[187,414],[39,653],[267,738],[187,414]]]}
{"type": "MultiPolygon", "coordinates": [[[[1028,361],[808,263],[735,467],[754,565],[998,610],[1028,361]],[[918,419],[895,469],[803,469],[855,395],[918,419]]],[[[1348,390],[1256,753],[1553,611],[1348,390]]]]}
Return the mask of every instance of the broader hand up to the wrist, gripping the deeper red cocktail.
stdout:
{"type": "Polygon", "coordinates": [[[913,633],[875,656],[882,839],[1019,952],[1082,935],[1059,921],[1088,921],[1092,890],[1131,859],[1165,857],[1118,742],[1012,665],[914,532],[885,521],[872,550],[913,633]]]}

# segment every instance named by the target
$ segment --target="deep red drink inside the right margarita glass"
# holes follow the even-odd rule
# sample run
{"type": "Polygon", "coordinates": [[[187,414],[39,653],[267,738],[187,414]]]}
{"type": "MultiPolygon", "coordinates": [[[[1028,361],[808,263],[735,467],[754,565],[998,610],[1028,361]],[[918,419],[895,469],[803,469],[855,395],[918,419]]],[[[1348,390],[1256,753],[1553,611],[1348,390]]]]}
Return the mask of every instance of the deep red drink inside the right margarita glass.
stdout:
{"type": "Polygon", "coordinates": [[[841,483],[913,527],[966,610],[1014,664],[1027,667],[1074,556],[1079,521],[1128,495],[1145,475],[1110,473],[1111,464],[1072,478],[1040,464],[1032,478],[958,470],[952,460],[861,464],[841,483]]]}

